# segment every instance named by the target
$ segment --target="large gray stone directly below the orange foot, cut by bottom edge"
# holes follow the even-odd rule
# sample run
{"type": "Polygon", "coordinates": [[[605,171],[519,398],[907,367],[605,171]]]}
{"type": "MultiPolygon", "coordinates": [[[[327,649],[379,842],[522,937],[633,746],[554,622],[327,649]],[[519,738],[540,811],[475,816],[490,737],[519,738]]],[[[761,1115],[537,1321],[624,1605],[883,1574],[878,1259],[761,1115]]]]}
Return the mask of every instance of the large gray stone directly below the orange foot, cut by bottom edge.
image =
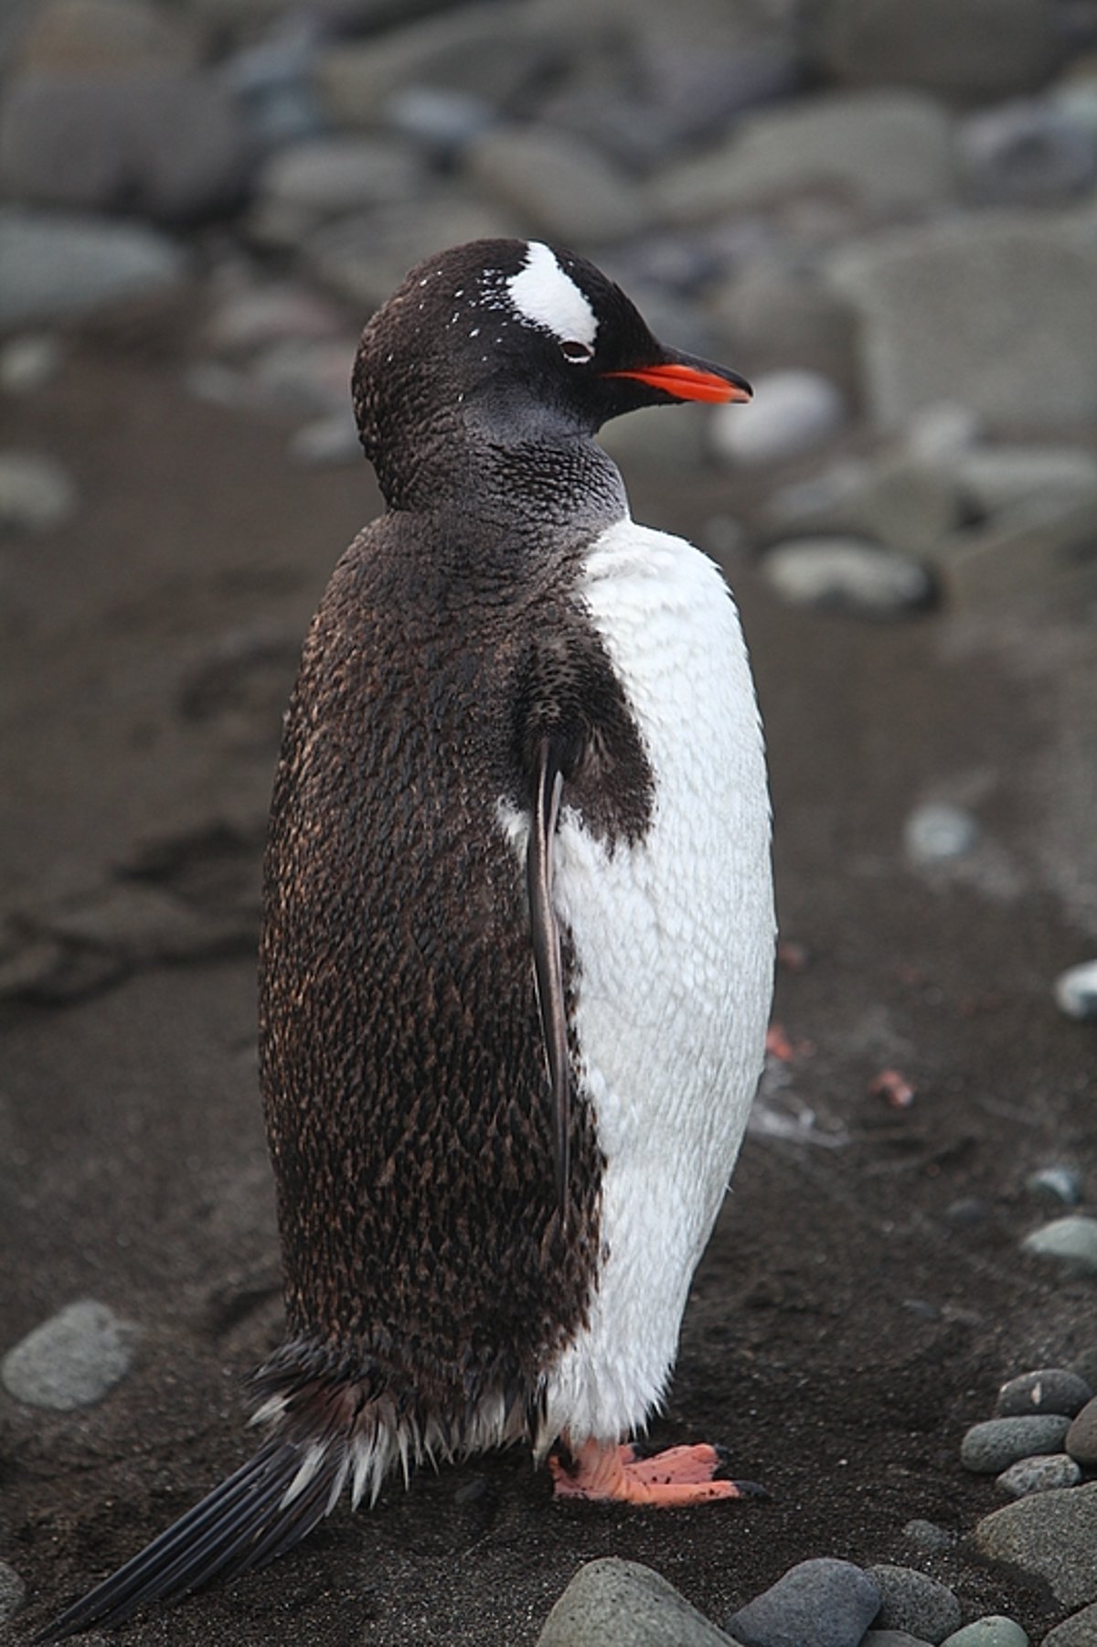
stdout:
{"type": "Polygon", "coordinates": [[[537,1647],[728,1647],[728,1637],[649,1566],[606,1556],[578,1570],[537,1647]]]}

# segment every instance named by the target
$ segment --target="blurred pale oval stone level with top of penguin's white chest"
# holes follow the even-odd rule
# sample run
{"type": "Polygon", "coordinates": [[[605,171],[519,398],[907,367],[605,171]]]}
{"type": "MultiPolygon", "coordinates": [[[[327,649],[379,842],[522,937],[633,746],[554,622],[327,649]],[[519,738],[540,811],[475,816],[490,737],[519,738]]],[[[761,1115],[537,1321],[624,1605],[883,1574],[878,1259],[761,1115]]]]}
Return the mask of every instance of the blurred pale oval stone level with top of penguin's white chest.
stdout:
{"type": "Polygon", "coordinates": [[[924,567],[880,544],[842,537],[787,539],[766,550],[763,576],[794,606],[894,618],[929,604],[924,567]]]}

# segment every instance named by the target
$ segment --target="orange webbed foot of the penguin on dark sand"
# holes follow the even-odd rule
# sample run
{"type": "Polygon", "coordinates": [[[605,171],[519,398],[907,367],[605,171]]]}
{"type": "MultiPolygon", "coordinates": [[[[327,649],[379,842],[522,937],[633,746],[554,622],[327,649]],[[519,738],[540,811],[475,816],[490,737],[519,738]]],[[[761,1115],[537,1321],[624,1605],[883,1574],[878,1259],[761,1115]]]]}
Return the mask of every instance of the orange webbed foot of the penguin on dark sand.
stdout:
{"type": "Polygon", "coordinates": [[[717,1499],[758,1497],[763,1489],[748,1481],[717,1481],[725,1454],[720,1448],[672,1446],[641,1458],[634,1446],[586,1441],[548,1459],[558,1499],[601,1499],[616,1504],[651,1504],[662,1509],[712,1504],[717,1499]]]}

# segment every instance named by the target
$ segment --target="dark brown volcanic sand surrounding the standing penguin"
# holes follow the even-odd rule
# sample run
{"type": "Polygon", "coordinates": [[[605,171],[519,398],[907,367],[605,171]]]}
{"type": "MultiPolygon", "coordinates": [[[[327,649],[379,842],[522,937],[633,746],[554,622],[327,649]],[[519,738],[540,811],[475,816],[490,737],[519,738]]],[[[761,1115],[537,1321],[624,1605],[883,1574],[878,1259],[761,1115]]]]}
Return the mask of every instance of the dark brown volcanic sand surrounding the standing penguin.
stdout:
{"type": "MultiPolygon", "coordinates": [[[[82,504],[0,552],[3,904],[41,916],[143,866],[138,884],[183,899],[199,932],[188,963],[3,1010],[0,1347],[81,1296],[142,1327],[132,1374],[92,1410],[0,1393],[0,1556],[30,1601],[12,1640],[245,1458],[239,1377],[278,1336],[259,840],[295,651],[377,496],[366,466],[290,466],[282,425],[194,404],[181,369],[171,351],[84,341],[5,432],[69,464],[82,504]]],[[[629,479],[637,517],[693,537],[736,496],[712,476],[629,479]]],[[[1018,1252],[1048,1215],[1023,1187],[1033,1168],[1074,1163],[1097,1191],[1092,1029],[1051,1001],[1056,972],[1095,947],[1062,896],[1097,713],[1090,698],[1081,718],[1077,593],[860,624],[731,572],[771,748],[782,934],[810,954],[782,972],[776,1016],[814,1047],[796,1095],[845,1143],[748,1140],[652,1436],[725,1441],[773,1500],[558,1507],[522,1453],[479,1458],[394,1484],[372,1514],[339,1510],[275,1568],[124,1640],[534,1642],[600,1555],[651,1563],[717,1621],[814,1555],[927,1566],[965,1616],[1011,1612],[1036,1639],[1061,1616],[901,1528],[970,1532],[1000,1500],[962,1472],[964,1428],[1003,1377],[1097,1341],[1094,1285],[1018,1252]],[[936,796],[969,800],[987,845],[967,878],[934,884],[904,866],[901,825],[936,796]],[[868,1094],[886,1066],[916,1085],[909,1110],[868,1094]],[[982,1217],[957,1220],[969,1197],[982,1217]]]]}

